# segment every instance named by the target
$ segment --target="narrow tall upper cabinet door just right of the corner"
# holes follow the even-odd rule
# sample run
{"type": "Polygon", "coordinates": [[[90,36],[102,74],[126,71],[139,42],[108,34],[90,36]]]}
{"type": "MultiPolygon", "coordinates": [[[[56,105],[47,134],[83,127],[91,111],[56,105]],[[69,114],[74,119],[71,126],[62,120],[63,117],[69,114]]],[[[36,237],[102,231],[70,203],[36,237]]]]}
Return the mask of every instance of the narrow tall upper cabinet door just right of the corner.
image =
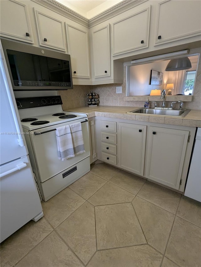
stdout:
{"type": "Polygon", "coordinates": [[[110,76],[110,25],[92,32],[94,77],[110,76]]]}

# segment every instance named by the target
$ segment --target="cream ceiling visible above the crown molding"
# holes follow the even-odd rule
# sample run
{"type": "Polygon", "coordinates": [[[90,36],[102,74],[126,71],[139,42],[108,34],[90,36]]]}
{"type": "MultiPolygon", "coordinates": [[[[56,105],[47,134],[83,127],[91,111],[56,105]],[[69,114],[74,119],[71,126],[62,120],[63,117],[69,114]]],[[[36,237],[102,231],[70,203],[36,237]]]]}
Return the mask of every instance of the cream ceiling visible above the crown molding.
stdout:
{"type": "Polygon", "coordinates": [[[87,19],[100,14],[122,0],[57,0],[57,2],[72,9],[87,19]]]}

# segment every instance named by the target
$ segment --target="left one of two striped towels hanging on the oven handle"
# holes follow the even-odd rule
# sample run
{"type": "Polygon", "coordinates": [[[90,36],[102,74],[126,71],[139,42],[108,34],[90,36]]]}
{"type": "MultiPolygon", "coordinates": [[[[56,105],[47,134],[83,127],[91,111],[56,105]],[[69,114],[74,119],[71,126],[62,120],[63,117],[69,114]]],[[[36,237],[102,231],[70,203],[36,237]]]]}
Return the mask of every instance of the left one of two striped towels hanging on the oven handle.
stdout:
{"type": "Polygon", "coordinates": [[[65,161],[75,156],[70,126],[65,125],[56,128],[57,148],[59,160],[65,161]]]}

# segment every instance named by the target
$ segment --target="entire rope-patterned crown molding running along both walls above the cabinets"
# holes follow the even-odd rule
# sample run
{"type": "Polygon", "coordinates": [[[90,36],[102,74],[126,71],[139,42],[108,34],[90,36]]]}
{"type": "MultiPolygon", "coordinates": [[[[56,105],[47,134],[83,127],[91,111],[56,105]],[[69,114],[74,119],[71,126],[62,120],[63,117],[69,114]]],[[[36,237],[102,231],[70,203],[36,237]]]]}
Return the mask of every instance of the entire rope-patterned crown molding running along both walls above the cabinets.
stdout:
{"type": "Polygon", "coordinates": [[[138,6],[148,0],[124,0],[121,3],[116,4],[115,6],[107,9],[106,11],[103,11],[102,13],[98,14],[97,16],[91,19],[83,17],[79,13],[62,5],[61,3],[58,3],[55,0],[31,0],[31,1],[43,7],[49,8],[50,10],[56,12],[57,14],[60,14],[68,19],[71,19],[85,27],[90,28],[118,14],[121,14],[122,12],[130,8],[138,6]]]}

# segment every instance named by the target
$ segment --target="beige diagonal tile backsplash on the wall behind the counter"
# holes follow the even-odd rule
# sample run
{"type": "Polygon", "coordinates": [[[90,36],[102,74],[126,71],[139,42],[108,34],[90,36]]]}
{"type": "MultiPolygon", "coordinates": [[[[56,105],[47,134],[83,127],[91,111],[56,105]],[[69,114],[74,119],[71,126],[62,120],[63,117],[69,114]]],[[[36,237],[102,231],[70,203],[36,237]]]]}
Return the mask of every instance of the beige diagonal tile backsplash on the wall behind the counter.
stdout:
{"type": "MultiPolygon", "coordinates": [[[[73,90],[59,91],[63,101],[63,109],[87,106],[86,96],[90,91],[99,95],[100,106],[144,106],[144,101],[124,101],[126,96],[126,68],[124,68],[123,84],[73,85],[73,90]],[[122,86],[122,94],[116,94],[116,86],[122,86]]],[[[170,106],[170,103],[166,101],[167,106],[170,106]]],[[[158,102],[158,106],[161,106],[161,104],[162,102],[158,102]]],[[[193,101],[184,102],[183,107],[201,109],[201,57],[198,63],[193,101]]]]}

